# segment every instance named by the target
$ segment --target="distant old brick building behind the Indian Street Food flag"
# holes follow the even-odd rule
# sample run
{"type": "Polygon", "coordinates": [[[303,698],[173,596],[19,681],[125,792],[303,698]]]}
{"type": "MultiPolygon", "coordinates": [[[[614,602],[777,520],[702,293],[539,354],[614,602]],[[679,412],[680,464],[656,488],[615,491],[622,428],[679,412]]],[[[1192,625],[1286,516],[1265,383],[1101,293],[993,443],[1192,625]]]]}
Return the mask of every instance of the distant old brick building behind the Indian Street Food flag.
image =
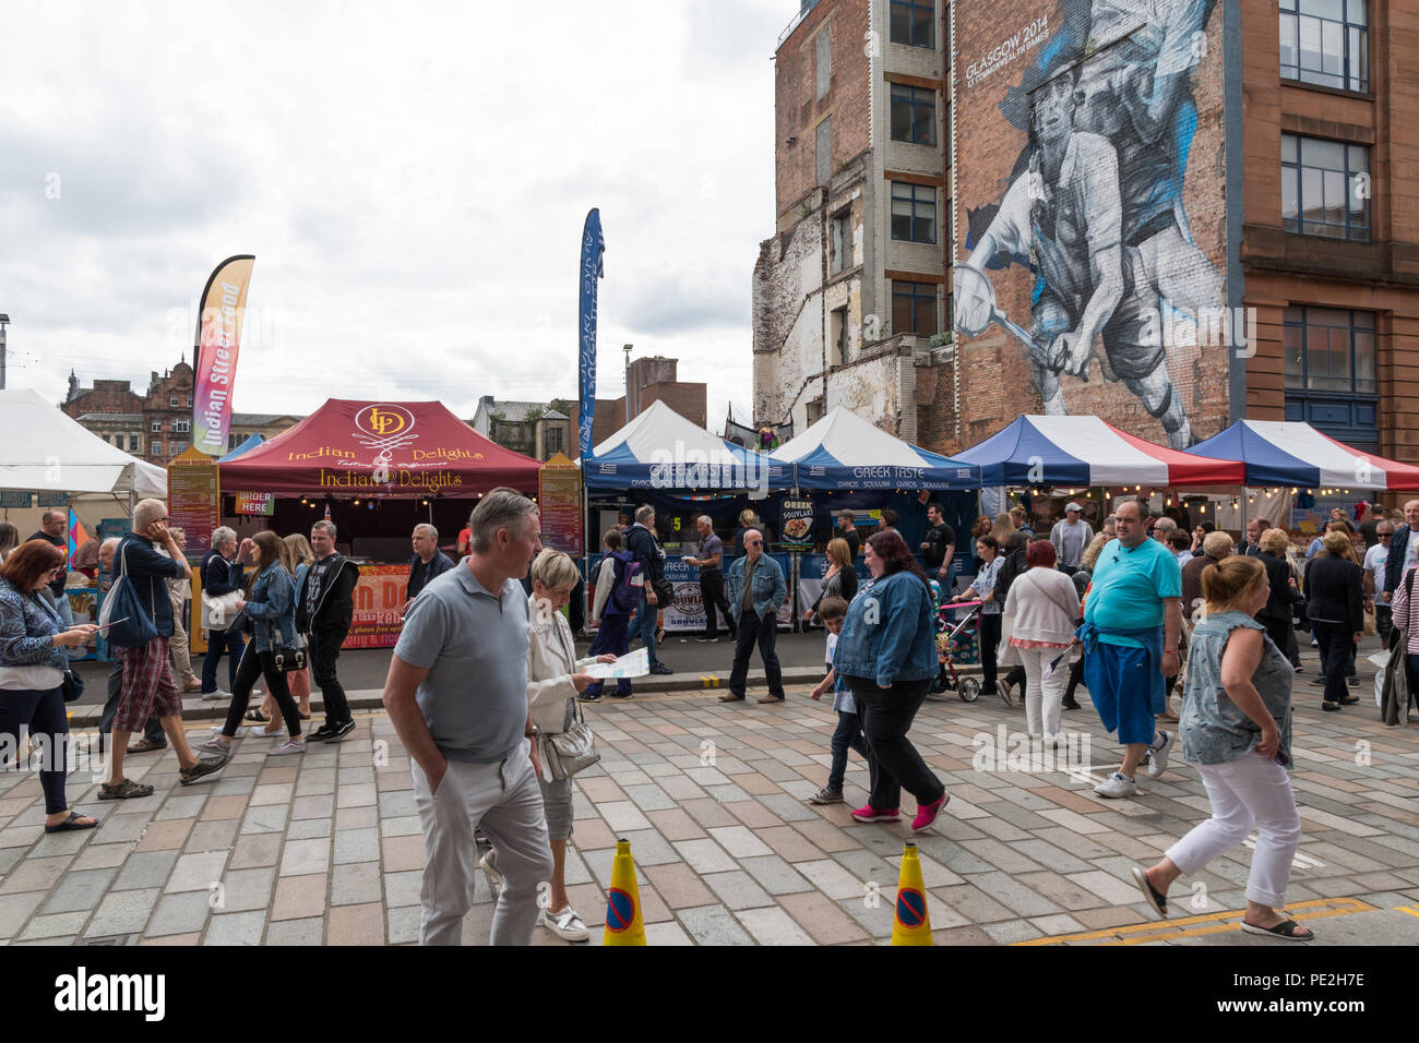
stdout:
{"type": "MultiPolygon", "coordinates": [[[[192,444],[193,369],[183,358],[162,376],[152,370],[139,394],[129,380],[95,380],[79,386],[70,372],[70,392],[60,407],[85,429],[150,464],[166,467],[192,444]]],[[[234,413],[228,443],[236,448],[251,434],[274,438],[302,417],[234,413]]]]}

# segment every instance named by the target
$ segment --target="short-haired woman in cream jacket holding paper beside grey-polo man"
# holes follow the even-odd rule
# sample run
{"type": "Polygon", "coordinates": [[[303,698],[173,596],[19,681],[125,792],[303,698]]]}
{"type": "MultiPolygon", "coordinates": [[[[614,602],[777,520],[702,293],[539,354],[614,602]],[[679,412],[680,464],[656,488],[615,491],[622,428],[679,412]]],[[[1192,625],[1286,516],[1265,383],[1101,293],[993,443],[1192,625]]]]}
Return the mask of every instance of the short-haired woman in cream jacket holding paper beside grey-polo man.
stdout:
{"type": "MultiPolygon", "coordinates": [[[[532,562],[532,597],[528,616],[528,708],[536,741],[568,729],[576,712],[576,697],[586,691],[592,677],[586,667],[592,663],[614,663],[612,654],[576,658],[572,627],[559,610],[572,596],[578,580],[576,565],[561,551],[542,551],[532,562]]],[[[542,756],[542,806],[546,813],[546,834],[552,843],[552,891],[538,922],[558,938],[580,942],[590,937],[586,924],[572,908],[566,894],[566,841],[572,839],[572,780],[549,778],[548,758],[542,756]]]]}

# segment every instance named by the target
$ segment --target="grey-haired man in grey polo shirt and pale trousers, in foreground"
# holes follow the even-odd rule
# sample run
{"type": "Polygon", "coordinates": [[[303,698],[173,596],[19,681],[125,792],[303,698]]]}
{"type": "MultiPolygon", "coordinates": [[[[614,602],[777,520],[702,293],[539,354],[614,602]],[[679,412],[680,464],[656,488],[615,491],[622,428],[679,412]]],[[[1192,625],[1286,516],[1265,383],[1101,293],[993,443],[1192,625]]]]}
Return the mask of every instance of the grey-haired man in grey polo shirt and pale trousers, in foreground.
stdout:
{"type": "Polygon", "coordinates": [[[526,945],[538,884],[552,876],[542,790],[528,738],[528,597],[542,549],[538,511],[509,488],[468,519],[470,555],[414,599],[385,681],[385,708],[409,751],[424,833],[421,945],[460,945],[477,873],[474,830],[502,877],[494,945],[526,945]]]}

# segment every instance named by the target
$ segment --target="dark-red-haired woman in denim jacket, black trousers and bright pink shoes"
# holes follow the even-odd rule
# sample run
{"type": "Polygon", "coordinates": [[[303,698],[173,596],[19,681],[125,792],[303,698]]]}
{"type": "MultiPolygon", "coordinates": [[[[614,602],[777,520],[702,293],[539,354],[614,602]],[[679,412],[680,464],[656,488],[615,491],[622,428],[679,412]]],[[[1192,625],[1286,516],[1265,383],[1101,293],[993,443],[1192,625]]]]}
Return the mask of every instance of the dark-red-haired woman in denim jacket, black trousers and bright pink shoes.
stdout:
{"type": "Polygon", "coordinates": [[[946,788],[927,768],[907,732],[937,674],[931,590],[895,531],[867,541],[873,583],[847,607],[834,666],[857,702],[867,736],[871,795],[857,822],[901,819],[902,786],[917,799],[914,830],[929,827],[946,805],[946,788]]]}

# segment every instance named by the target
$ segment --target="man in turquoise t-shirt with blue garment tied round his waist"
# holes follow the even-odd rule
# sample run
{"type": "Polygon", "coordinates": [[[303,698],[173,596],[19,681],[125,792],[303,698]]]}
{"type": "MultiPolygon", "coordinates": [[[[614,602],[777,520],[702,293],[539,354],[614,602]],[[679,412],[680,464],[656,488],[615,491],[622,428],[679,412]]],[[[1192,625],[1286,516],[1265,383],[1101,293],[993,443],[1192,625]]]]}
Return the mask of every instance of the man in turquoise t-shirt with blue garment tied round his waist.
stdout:
{"type": "Polygon", "coordinates": [[[1174,552],[1144,531],[1142,507],[1118,508],[1118,539],[1104,546],[1084,599],[1084,684],[1108,731],[1127,746],[1122,766],[1094,788],[1100,796],[1132,796],[1134,772],[1151,751],[1148,775],[1168,766],[1168,732],[1155,728],[1164,678],[1179,670],[1182,570],[1174,552]]]}

